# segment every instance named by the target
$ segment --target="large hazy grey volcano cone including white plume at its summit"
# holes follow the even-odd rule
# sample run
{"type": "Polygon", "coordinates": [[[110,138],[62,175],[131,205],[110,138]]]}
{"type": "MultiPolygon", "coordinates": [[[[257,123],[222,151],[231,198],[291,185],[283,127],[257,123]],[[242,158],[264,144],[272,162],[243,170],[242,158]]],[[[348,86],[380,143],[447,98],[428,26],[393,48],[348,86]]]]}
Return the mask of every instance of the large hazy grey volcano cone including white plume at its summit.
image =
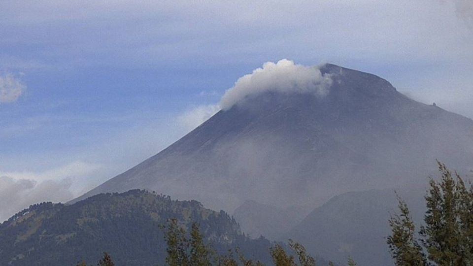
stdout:
{"type": "Polygon", "coordinates": [[[411,100],[373,74],[287,62],[280,71],[280,62],[240,78],[223,110],[80,199],[141,188],[227,211],[245,200],[289,207],[425,184],[436,159],[470,170],[471,119],[411,100]]]}

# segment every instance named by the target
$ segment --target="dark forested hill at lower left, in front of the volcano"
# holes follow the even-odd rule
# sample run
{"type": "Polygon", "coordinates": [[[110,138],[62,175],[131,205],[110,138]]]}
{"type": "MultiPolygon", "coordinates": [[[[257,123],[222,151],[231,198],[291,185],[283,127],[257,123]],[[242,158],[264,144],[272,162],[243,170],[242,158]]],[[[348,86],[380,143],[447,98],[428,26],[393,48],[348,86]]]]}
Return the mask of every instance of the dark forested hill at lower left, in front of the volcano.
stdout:
{"type": "Polygon", "coordinates": [[[247,257],[270,262],[270,242],[245,237],[225,212],[203,208],[195,200],[132,190],[25,209],[0,224],[0,265],[95,263],[103,251],[117,265],[163,265],[166,243],[160,227],[170,218],[187,228],[198,222],[205,239],[222,254],[238,246],[247,257]]]}

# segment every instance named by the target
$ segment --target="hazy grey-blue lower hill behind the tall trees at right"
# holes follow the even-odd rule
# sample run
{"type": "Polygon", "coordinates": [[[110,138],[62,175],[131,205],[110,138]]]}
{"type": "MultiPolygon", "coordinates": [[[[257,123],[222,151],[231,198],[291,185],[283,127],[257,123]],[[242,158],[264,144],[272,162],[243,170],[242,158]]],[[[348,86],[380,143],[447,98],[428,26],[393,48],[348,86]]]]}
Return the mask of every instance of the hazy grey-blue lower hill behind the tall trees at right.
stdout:
{"type": "MultiPolygon", "coordinates": [[[[398,188],[396,193],[409,205],[417,225],[425,213],[425,188],[398,188]]],[[[394,265],[386,237],[388,219],[398,212],[392,189],[348,192],[315,208],[285,237],[297,239],[309,252],[343,262],[348,256],[359,265],[394,265]]]]}

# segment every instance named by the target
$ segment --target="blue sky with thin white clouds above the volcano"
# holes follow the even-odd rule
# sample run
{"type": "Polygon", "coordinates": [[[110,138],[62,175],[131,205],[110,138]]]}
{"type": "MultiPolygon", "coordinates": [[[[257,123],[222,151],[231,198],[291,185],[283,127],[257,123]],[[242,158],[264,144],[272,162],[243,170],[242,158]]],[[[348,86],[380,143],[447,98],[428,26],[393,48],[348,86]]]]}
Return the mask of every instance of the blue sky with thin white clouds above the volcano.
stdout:
{"type": "Polygon", "coordinates": [[[372,72],[473,117],[470,0],[2,0],[0,36],[0,220],[159,152],[268,61],[372,72]]]}

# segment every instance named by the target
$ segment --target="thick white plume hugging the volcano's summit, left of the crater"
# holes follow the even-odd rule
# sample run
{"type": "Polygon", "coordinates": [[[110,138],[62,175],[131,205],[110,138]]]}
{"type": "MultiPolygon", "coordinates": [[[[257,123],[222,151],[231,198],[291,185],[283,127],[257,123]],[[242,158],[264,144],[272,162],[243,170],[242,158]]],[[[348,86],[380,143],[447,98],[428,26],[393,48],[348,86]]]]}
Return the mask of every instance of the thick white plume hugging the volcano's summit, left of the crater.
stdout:
{"type": "Polygon", "coordinates": [[[287,59],[267,62],[263,68],[256,68],[251,74],[238,78],[235,86],[225,92],[220,106],[228,110],[249,96],[269,91],[325,96],[331,84],[330,75],[322,75],[317,67],[297,65],[287,59]]]}

